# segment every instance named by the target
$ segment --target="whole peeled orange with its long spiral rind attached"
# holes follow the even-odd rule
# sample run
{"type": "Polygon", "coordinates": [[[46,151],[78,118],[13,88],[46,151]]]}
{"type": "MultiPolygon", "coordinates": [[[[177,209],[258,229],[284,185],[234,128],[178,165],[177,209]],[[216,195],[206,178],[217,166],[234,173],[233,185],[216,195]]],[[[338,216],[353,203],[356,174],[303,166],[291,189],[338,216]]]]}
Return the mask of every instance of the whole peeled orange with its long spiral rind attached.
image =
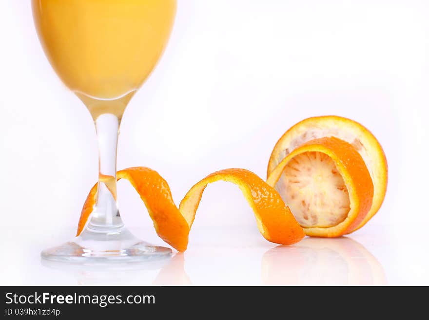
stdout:
{"type": "MultiPolygon", "coordinates": [[[[306,234],[339,237],[365,225],[383,202],[387,162],[378,141],[359,123],[338,116],[312,117],[278,140],[267,176],[264,182],[246,169],[216,171],[196,183],[176,207],[167,182],[156,171],[133,167],[117,172],[117,180],[128,180],[140,195],[158,236],[185,251],[196,210],[210,183],[222,180],[237,185],[264,238],[292,245],[306,234]]],[[[116,195],[116,190],[111,192],[116,195]]],[[[84,203],[77,235],[96,198],[97,185],[84,203]]]]}

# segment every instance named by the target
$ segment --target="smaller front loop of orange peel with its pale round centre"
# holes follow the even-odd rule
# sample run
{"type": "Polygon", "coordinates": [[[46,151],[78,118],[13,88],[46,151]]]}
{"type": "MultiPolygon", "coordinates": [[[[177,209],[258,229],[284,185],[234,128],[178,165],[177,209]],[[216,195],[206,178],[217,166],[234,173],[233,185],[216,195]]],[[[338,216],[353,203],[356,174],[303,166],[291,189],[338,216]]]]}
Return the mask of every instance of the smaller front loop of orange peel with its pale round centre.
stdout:
{"type": "Polygon", "coordinates": [[[271,172],[282,177],[283,200],[309,236],[338,237],[366,217],[373,196],[370,173],[353,146],[334,137],[310,140],[271,172]]]}

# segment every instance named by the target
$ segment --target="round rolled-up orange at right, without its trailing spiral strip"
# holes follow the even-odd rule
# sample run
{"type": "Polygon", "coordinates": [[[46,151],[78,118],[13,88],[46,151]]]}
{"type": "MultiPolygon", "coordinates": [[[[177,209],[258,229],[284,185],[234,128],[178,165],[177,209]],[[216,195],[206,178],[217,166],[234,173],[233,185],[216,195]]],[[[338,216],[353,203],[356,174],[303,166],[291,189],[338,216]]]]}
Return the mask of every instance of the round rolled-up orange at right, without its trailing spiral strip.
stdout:
{"type": "Polygon", "coordinates": [[[295,124],[278,140],[267,182],[307,235],[335,237],[362,227],[378,211],[387,173],[383,149],[368,129],[347,118],[320,116],[295,124]],[[365,206],[355,211],[358,203],[365,206]]]}

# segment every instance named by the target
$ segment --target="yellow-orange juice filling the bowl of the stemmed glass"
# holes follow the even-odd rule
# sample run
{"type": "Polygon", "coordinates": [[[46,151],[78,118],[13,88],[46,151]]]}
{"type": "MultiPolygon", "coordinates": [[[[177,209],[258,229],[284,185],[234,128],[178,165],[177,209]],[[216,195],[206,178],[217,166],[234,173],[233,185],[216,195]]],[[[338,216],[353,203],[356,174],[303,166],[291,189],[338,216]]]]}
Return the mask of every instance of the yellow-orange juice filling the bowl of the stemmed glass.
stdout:
{"type": "Polygon", "coordinates": [[[154,69],[176,0],[32,0],[43,49],[94,118],[119,118],[154,69]]]}

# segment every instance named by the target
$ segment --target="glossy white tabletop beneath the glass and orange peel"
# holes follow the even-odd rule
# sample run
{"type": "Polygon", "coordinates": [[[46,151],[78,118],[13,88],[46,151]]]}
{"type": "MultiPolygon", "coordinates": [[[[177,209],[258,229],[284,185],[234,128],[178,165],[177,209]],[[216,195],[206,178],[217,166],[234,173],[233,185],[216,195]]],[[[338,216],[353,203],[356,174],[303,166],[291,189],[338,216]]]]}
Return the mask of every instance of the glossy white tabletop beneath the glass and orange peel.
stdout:
{"type": "MultiPolygon", "coordinates": [[[[82,266],[41,261],[53,237],[16,230],[1,243],[0,284],[25,285],[386,285],[429,284],[425,255],[410,259],[411,242],[393,245],[391,235],[368,226],[338,239],[305,238],[292,246],[265,241],[256,226],[198,228],[189,249],[147,264],[82,266]],[[24,248],[23,243],[31,244],[24,248]],[[24,248],[24,249],[23,249],[24,248]],[[419,271],[420,270],[420,271],[419,271]]],[[[136,229],[156,245],[151,229],[136,229]]],[[[56,235],[60,237],[60,235],[56,235]]],[[[424,252],[425,244],[415,242],[424,252]]]]}

